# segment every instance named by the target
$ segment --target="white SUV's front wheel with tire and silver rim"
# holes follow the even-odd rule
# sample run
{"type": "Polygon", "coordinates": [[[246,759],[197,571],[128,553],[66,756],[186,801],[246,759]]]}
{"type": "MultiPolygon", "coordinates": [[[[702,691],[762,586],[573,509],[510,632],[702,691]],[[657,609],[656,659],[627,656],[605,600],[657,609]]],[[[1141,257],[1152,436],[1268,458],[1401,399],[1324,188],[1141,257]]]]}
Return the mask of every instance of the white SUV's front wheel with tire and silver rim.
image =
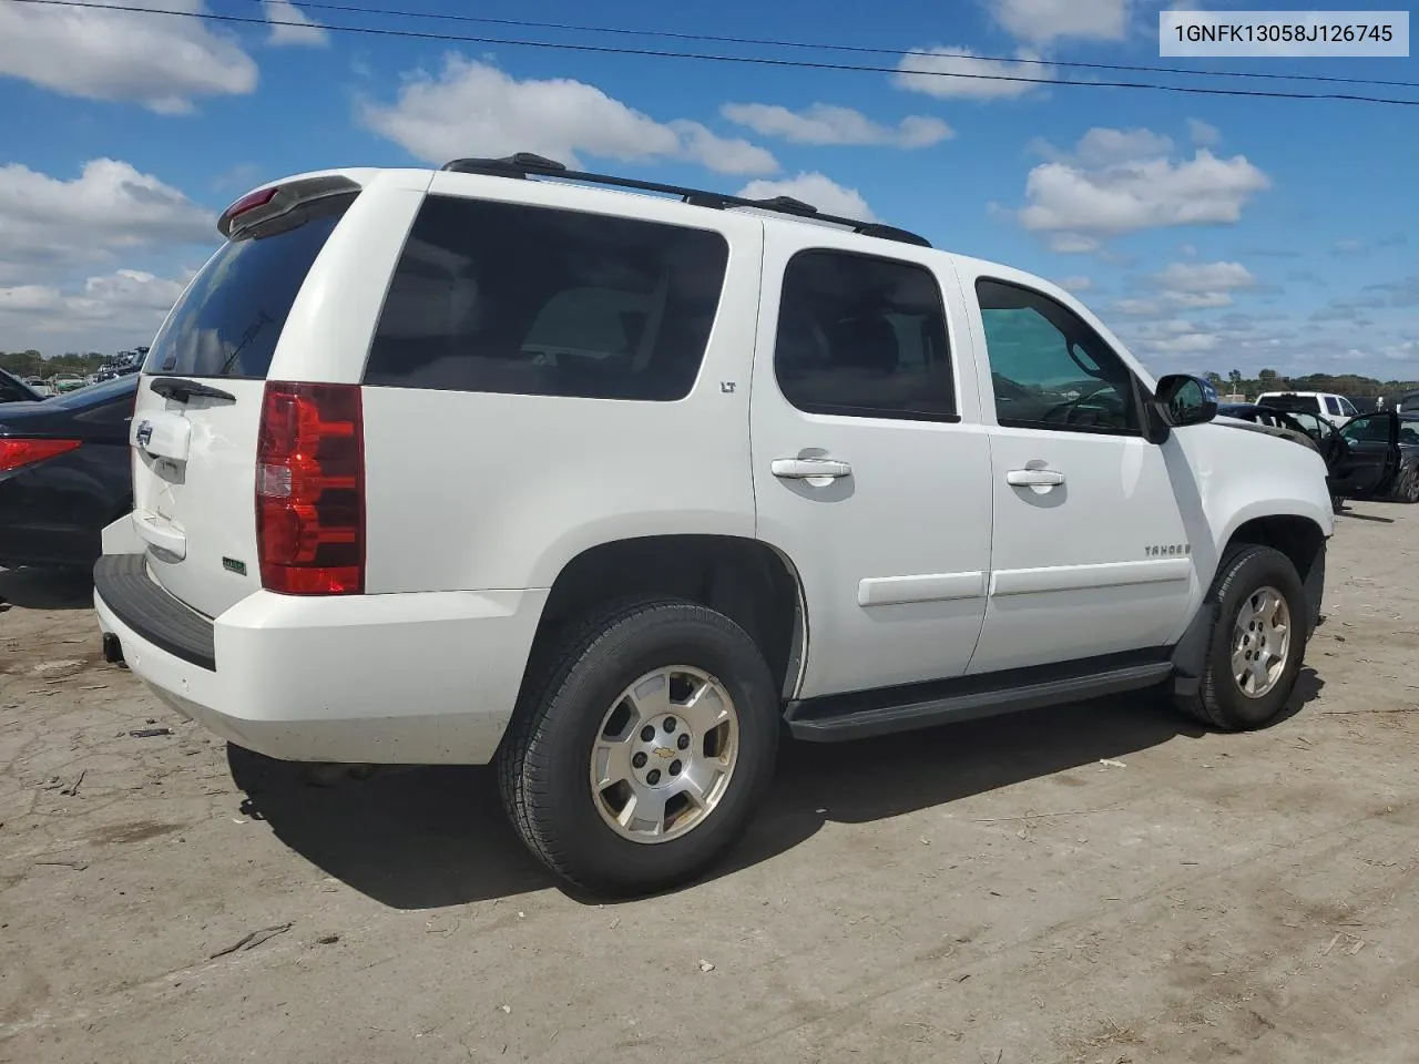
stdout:
{"type": "Polygon", "coordinates": [[[1263,728],[1286,708],[1305,654],[1301,577],[1280,550],[1243,546],[1223,558],[1208,602],[1218,619],[1200,682],[1179,705],[1223,731],[1263,728]]]}

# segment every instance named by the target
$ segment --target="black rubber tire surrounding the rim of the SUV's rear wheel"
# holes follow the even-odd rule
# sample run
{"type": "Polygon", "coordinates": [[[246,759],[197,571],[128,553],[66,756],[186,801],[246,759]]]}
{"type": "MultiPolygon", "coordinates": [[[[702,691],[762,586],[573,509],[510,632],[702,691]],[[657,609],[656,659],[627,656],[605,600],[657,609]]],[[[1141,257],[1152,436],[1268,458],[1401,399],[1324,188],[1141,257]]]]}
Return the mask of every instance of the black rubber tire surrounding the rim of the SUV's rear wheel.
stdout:
{"type": "Polygon", "coordinates": [[[744,834],[773,777],[780,706],[753,640],[721,613],[675,599],[609,604],[539,638],[497,755],[502,804],[526,847],[568,882],[643,895],[707,871],[744,834]],[[715,677],[738,712],[738,760],[705,819],[664,843],[602,820],[587,782],[602,718],[637,677],[690,665],[715,677]]]}

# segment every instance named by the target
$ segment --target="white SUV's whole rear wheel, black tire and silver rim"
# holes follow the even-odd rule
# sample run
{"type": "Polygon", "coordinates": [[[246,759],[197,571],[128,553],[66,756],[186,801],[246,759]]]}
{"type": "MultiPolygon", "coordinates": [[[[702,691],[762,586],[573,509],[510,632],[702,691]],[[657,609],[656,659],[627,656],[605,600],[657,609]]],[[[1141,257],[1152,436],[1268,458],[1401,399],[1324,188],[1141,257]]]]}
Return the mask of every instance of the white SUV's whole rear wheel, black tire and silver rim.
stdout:
{"type": "Polygon", "coordinates": [[[542,640],[497,767],[553,872],[607,895],[681,885],[744,833],[779,739],[753,640],[704,606],[634,600],[542,640]]]}

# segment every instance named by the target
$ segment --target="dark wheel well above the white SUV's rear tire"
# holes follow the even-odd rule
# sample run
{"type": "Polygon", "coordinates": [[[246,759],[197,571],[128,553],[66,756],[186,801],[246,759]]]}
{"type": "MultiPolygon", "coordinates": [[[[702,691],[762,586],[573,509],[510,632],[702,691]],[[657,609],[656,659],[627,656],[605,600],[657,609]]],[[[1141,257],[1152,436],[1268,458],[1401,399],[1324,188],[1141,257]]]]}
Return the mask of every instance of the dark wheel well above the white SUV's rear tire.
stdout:
{"type": "Polygon", "coordinates": [[[668,594],[718,610],[759,645],[780,691],[797,680],[799,583],[773,548],[736,536],[641,536],[583,550],[558,573],[538,636],[602,602],[668,594]]]}

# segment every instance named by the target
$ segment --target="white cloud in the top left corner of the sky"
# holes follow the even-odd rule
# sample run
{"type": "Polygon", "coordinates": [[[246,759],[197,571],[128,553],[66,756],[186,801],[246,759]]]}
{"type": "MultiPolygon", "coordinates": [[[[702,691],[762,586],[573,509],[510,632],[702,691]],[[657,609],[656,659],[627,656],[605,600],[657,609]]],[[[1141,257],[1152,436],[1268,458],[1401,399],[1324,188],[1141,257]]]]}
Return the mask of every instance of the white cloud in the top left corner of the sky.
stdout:
{"type": "MultiPolygon", "coordinates": [[[[206,11],[201,0],[145,6],[206,11]]],[[[142,104],[158,113],[186,113],[193,96],[243,95],[257,87],[251,57],[200,18],[13,3],[0,3],[0,75],[70,96],[142,104]]]]}

